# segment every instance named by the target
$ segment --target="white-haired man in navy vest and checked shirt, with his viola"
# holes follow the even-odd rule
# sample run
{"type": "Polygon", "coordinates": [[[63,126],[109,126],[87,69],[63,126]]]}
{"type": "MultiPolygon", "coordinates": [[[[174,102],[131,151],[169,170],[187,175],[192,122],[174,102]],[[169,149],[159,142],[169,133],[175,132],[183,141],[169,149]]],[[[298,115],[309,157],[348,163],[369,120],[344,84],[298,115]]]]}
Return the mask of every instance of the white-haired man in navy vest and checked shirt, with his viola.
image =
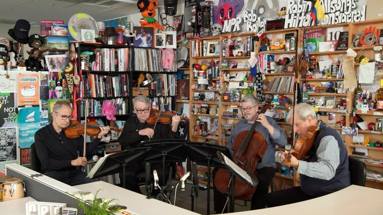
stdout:
{"type": "Polygon", "coordinates": [[[280,163],[286,167],[292,166],[300,173],[300,186],[267,194],[267,206],[275,207],[314,199],[350,186],[348,154],[340,134],[318,120],[314,108],[306,103],[297,104],[291,109],[286,122],[291,125],[294,123],[299,137],[290,150],[291,153],[282,153],[280,163]],[[307,153],[304,153],[306,155],[300,155],[303,146],[307,145],[309,147],[307,153]],[[304,157],[300,158],[301,156],[304,157]]]}

